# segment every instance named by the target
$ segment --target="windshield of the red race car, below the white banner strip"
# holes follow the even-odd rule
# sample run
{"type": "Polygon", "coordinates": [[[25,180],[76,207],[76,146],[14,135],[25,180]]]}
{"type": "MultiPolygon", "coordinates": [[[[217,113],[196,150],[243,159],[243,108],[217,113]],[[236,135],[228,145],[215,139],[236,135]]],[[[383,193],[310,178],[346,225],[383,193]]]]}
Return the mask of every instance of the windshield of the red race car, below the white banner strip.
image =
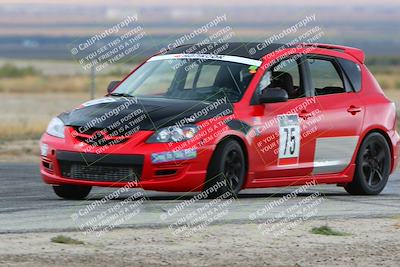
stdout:
{"type": "Polygon", "coordinates": [[[149,60],[112,94],[202,101],[227,97],[237,102],[254,75],[254,67],[204,58],[149,60]]]}

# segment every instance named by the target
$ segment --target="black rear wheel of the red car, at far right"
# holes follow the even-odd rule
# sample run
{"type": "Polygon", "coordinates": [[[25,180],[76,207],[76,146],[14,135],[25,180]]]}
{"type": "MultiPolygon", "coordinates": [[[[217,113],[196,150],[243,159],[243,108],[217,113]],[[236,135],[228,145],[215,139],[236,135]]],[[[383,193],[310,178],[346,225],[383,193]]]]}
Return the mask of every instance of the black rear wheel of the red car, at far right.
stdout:
{"type": "Polygon", "coordinates": [[[390,165],[391,153],[385,137],[371,133],[358,151],[353,181],[344,188],[352,195],[378,195],[386,186],[390,165]]]}

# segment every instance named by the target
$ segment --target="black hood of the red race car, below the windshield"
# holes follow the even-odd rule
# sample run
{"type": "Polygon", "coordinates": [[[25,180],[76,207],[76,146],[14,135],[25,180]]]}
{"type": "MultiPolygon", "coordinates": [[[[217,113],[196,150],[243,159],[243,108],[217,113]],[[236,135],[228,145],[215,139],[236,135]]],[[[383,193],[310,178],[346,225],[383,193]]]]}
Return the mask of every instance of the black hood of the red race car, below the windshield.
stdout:
{"type": "Polygon", "coordinates": [[[60,118],[80,133],[123,128],[124,132],[155,130],[173,125],[193,124],[233,113],[227,98],[217,102],[166,98],[104,97],[86,102],[60,118]]]}

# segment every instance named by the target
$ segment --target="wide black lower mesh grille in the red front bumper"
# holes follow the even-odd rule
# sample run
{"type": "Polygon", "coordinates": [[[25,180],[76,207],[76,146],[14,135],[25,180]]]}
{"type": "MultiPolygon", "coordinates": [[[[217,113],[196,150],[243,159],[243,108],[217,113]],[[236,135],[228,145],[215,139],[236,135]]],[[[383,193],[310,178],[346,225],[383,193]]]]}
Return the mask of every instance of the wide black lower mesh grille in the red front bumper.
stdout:
{"type": "Polygon", "coordinates": [[[139,181],[143,156],[97,155],[57,151],[61,175],[65,178],[99,182],[139,181]]]}

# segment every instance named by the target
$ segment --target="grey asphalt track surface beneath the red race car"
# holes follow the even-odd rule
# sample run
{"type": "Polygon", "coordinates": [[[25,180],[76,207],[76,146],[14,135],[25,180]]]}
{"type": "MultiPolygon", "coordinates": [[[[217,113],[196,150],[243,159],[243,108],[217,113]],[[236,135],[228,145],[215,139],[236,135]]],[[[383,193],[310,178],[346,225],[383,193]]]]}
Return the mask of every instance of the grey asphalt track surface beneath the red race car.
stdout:
{"type": "MultiPolygon", "coordinates": [[[[116,189],[95,188],[89,199],[84,201],[62,200],[53,193],[50,186],[42,182],[37,164],[2,163],[0,182],[0,233],[79,231],[79,226],[85,223],[85,220],[90,220],[102,211],[109,211],[136,192],[143,192],[145,200],[129,211],[130,214],[134,213],[133,216],[125,216],[129,218],[114,225],[116,228],[168,227],[185,214],[212,204],[211,200],[196,201],[170,216],[169,211],[176,211],[177,207],[185,201],[187,203],[194,194],[131,189],[116,199],[96,206],[89,213],[79,213],[82,210],[87,211],[88,205],[96,200],[99,202],[116,189]],[[74,220],[73,216],[76,214],[83,215],[78,219],[75,217],[74,220]]],[[[291,207],[310,198],[316,192],[320,193],[321,201],[313,206],[314,212],[310,213],[311,217],[329,221],[332,218],[391,217],[400,214],[399,170],[391,175],[385,190],[378,196],[350,196],[341,187],[320,185],[310,187],[297,197],[286,198],[280,202],[294,189],[285,187],[243,190],[238,199],[227,203],[227,212],[211,223],[263,223],[268,218],[276,218],[279,214],[292,211],[291,207]],[[265,212],[265,207],[277,202],[279,205],[265,212]]]]}

